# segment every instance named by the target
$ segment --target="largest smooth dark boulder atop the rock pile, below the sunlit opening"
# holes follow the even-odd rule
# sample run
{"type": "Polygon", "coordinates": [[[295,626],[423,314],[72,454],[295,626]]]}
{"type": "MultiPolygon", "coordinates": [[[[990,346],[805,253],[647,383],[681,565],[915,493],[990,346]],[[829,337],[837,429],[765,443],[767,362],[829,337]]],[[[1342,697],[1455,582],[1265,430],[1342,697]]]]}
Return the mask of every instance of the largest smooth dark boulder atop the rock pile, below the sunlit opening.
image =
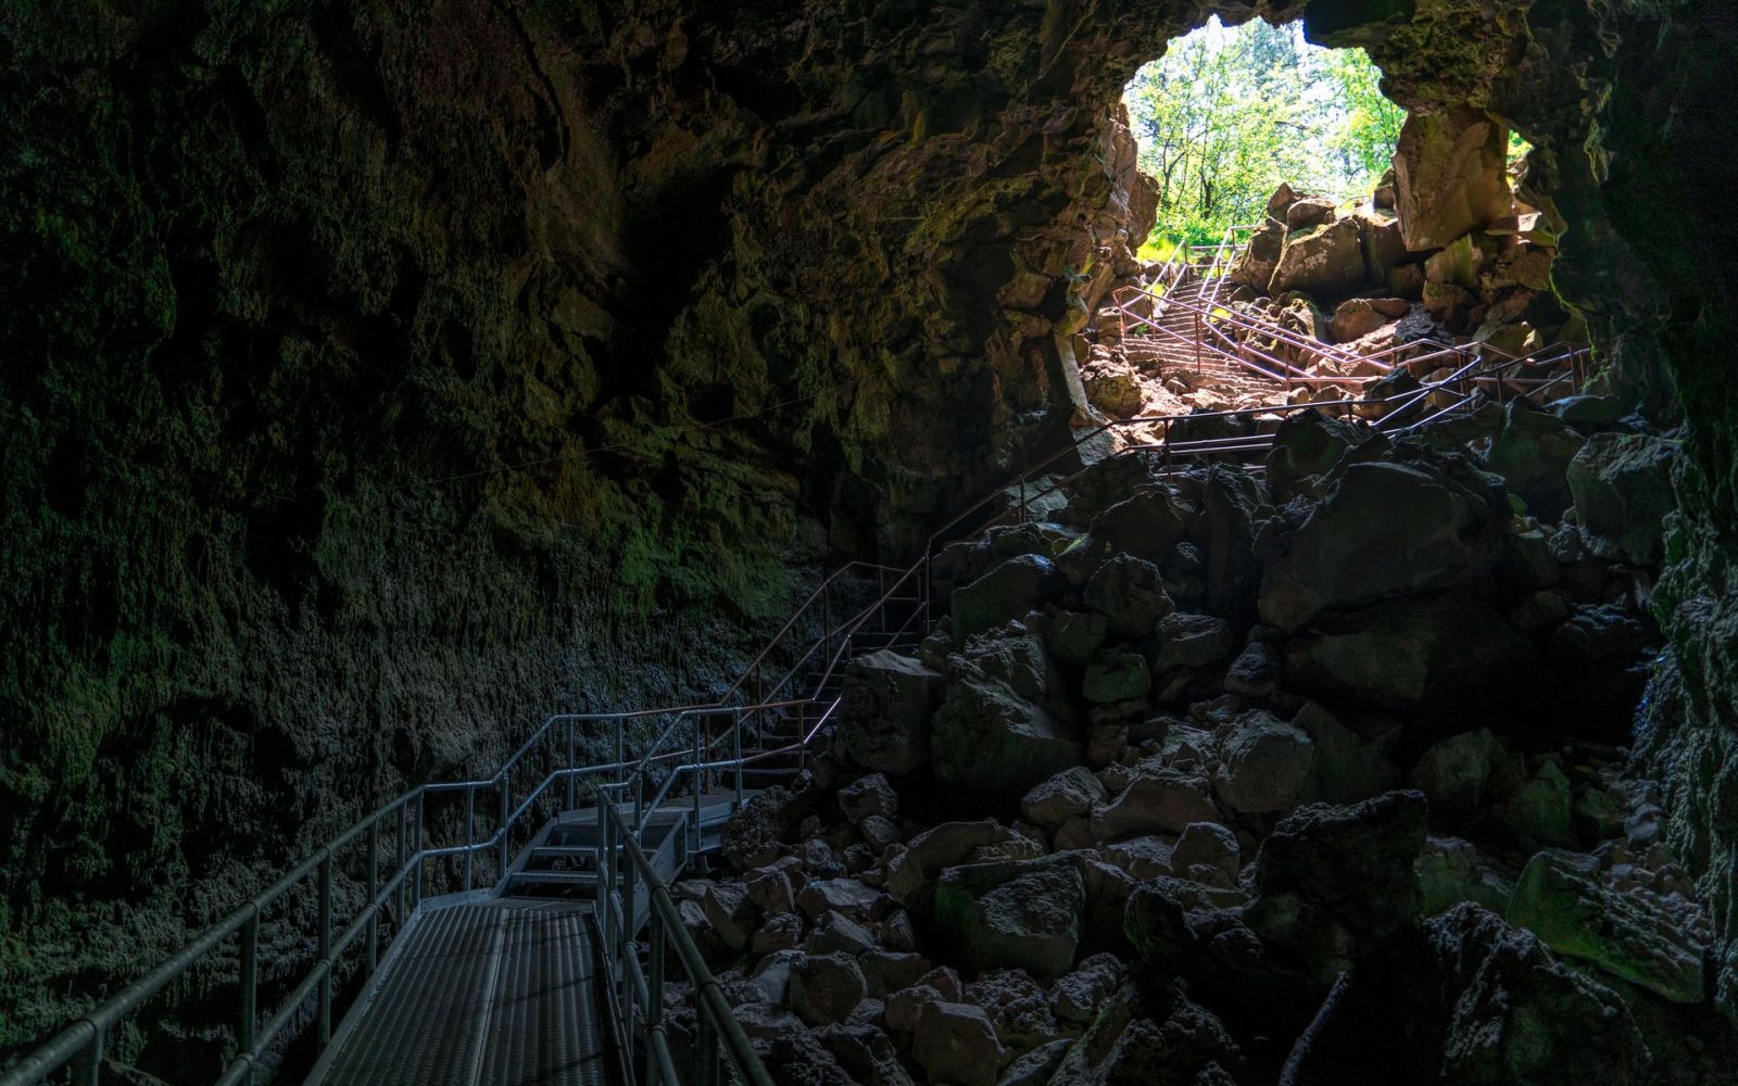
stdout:
{"type": "Polygon", "coordinates": [[[1328,608],[1458,584],[1489,570],[1500,542],[1496,513],[1446,473],[1352,464],[1269,566],[1260,615],[1293,631],[1328,608]]]}

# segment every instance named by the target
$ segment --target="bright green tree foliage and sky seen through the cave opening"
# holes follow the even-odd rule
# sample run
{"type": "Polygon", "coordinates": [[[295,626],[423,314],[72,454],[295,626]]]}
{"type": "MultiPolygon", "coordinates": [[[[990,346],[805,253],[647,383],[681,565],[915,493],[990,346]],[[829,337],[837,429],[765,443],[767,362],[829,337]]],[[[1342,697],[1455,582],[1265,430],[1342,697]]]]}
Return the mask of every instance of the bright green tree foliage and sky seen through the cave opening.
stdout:
{"type": "Polygon", "coordinates": [[[1302,24],[1215,19],[1171,42],[1124,94],[1140,167],[1159,179],[1154,240],[1199,245],[1255,222],[1281,181],[1368,193],[1406,118],[1380,78],[1364,50],[1317,49],[1302,24]]]}

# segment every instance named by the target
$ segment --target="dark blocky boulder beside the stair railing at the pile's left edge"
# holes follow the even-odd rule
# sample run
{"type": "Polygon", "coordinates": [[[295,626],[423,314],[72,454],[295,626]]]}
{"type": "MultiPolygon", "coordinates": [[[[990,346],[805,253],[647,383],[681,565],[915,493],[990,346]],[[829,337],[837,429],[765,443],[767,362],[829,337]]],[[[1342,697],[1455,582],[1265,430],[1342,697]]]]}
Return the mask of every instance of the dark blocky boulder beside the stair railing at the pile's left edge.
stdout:
{"type": "Polygon", "coordinates": [[[905,775],[930,761],[930,721],[942,704],[942,674],[890,650],[845,666],[838,740],[869,770],[905,775]]]}

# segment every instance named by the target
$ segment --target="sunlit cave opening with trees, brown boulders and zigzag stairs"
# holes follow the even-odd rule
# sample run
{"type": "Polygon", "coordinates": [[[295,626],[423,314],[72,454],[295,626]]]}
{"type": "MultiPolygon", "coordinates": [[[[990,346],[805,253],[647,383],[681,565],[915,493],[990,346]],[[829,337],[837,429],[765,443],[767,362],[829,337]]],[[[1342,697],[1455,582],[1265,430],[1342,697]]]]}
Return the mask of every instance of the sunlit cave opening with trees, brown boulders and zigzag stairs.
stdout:
{"type": "Polygon", "coordinates": [[[1408,113],[1382,82],[1302,23],[1218,17],[1133,75],[1128,254],[1074,348],[1100,412],[1375,419],[1354,405],[1444,381],[1580,387],[1585,325],[1550,285],[1561,222],[1526,182],[1529,144],[1472,106],[1408,113]]]}

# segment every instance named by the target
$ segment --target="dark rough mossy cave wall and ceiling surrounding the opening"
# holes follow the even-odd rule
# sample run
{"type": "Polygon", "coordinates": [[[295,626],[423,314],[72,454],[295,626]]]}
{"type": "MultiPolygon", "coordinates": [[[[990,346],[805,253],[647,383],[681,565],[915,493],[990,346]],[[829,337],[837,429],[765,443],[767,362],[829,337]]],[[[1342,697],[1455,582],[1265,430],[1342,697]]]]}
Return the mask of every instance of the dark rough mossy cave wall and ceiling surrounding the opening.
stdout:
{"type": "Polygon", "coordinates": [[[1731,999],[1714,7],[5,5],[0,1048],[407,782],[716,685],[793,570],[1055,440],[1048,344],[1128,242],[1114,103],[1213,10],[1519,127],[1559,292],[1675,389],[1644,751],[1731,999]]]}

